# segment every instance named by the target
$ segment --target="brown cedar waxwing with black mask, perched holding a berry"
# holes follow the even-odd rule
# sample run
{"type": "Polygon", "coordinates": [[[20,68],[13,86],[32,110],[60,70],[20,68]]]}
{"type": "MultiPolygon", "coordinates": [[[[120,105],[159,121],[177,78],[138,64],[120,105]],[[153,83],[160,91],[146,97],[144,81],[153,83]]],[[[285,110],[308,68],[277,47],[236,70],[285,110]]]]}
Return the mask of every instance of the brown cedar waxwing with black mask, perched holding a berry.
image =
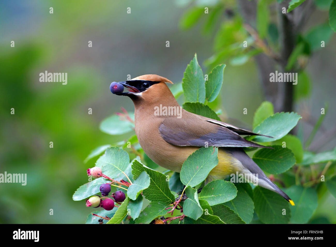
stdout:
{"type": "Polygon", "coordinates": [[[236,172],[246,174],[257,180],[261,187],[275,191],[294,205],[243,150],[244,147],[266,147],[248,141],[239,134],[261,134],[185,111],[179,106],[166,83],[172,82],[158,75],[143,75],[119,82],[129,92],[115,92],[132,99],[135,107],[135,133],[149,158],[159,166],[180,172],[188,156],[204,147],[207,142],[209,146],[219,149],[218,165],[210,171],[206,181],[224,179],[236,172]],[[177,111],[181,111],[180,116],[155,114],[158,108],[164,107],[178,108],[177,111]]]}

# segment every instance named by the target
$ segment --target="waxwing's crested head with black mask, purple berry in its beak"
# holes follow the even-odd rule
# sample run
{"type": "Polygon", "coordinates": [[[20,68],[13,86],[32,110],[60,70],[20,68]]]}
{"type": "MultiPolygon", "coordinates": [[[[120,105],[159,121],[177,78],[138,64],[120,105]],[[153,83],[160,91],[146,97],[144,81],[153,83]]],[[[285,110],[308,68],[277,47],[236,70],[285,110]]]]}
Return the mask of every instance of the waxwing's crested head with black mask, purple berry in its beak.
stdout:
{"type": "Polygon", "coordinates": [[[116,95],[129,96],[134,104],[139,101],[149,104],[150,102],[160,100],[160,98],[170,98],[172,96],[166,83],[172,82],[158,75],[142,75],[129,81],[113,82],[110,89],[116,95]],[[123,92],[123,87],[120,84],[128,92],[123,92]]]}

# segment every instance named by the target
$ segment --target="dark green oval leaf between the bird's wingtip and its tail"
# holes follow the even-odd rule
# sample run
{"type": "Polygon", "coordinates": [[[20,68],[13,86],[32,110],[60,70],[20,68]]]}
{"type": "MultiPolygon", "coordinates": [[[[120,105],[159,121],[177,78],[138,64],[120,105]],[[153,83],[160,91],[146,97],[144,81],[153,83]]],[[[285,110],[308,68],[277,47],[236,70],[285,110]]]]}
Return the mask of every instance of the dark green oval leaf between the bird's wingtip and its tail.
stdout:
{"type": "Polygon", "coordinates": [[[253,161],[265,172],[280,174],[295,164],[291,150],[282,146],[270,146],[274,149],[260,149],[253,155],[253,161]]]}

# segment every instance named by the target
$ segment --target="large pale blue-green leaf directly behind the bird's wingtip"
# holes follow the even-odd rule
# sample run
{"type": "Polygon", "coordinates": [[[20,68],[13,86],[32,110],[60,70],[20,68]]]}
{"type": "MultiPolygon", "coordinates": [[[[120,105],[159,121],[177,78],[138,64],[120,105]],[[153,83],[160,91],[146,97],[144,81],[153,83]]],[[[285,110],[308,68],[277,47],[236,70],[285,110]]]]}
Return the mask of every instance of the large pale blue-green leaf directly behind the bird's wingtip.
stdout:
{"type": "Polygon", "coordinates": [[[302,117],[294,112],[280,112],[266,118],[262,123],[253,129],[253,132],[263,135],[269,135],[273,138],[266,136],[256,136],[253,141],[268,142],[278,140],[295,127],[299,119],[302,117]]]}

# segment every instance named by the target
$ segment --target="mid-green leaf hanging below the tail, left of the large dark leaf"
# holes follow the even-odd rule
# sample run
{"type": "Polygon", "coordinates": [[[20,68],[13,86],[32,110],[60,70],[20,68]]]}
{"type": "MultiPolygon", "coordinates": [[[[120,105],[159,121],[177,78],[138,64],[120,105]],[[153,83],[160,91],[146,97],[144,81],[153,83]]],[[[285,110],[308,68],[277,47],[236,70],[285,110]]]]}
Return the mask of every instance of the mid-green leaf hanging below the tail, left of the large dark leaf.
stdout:
{"type": "MultiPolygon", "coordinates": [[[[224,203],[224,205],[235,211],[246,223],[250,223],[253,217],[254,203],[242,184],[243,183],[235,183],[238,190],[237,196],[233,200],[224,203]]],[[[250,185],[248,184],[248,186],[250,185]]]]}

